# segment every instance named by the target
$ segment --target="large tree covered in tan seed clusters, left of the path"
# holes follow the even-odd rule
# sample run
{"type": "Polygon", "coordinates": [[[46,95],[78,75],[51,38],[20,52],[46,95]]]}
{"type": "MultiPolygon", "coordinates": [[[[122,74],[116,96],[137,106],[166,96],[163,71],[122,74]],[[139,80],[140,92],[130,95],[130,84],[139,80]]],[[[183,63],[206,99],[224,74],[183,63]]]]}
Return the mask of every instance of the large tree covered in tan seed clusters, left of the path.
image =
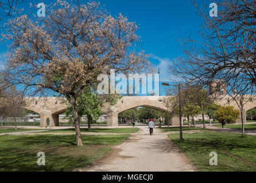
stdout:
{"type": "Polygon", "coordinates": [[[100,73],[127,74],[147,69],[149,61],[133,42],[137,25],[119,14],[113,17],[99,3],[57,1],[46,17],[26,15],[9,21],[11,40],[7,86],[19,85],[30,96],[57,93],[72,104],[77,145],[82,146],[77,97],[100,73]]]}

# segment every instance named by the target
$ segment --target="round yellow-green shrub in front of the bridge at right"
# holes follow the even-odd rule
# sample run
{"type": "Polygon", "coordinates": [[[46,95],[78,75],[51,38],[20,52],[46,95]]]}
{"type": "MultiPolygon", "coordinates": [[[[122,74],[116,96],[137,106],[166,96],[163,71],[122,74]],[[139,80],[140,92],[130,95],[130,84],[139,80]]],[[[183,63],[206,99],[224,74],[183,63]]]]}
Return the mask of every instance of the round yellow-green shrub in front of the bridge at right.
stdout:
{"type": "Polygon", "coordinates": [[[239,118],[239,110],[234,109],[233,106],[220,107],[216,110],[216,119],[222,121],[224,119],[227,124],[234,123],[239,118]]]}

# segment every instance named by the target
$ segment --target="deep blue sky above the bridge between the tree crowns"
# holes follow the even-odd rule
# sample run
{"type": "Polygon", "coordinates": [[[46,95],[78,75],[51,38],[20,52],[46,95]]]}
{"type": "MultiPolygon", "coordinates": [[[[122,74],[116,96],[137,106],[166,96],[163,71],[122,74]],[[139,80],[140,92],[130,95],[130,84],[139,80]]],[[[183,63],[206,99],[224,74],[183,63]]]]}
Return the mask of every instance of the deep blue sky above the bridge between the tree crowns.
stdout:
{"type": "MultiPolygon", "coordinates": [[[[21,6],[25,12],[29,10],[29,3],[44,2],[48,5],[52,1],[26,1],[21,6]]],[[[87,1],[83,1],[87,2],[87,1]]],[[[97,1],[96,1],[97,2],[97,1]]],[[[129,21],[137,22],[137,34],[141,36],[142,49],[151,54],[150,61],[160,67],[160,80],[168,81],[166,73],[172,59],[183,55],[179,47],[179,39],[192,36],[200,39],[199,30],[203,19],[199,17],[190,0],[101,0],[101,5],[112,14],[122,13],[129,21]]],[[[209,9],[210,10],[210,9],[209,9]]],[[[47,8],[46,8],[47,11],[47,8]]],[[[37,13],[34,8],[33,13],[37,13]]],[[[1,45],[0,53],[5,53],[6,45],[1,45]]]]}

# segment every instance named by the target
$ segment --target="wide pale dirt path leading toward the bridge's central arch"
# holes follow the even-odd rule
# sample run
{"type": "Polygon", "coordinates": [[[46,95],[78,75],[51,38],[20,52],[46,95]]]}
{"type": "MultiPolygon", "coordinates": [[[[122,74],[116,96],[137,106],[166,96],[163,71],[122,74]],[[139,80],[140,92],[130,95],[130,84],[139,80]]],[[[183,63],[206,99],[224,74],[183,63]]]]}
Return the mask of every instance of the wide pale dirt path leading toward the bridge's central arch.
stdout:
{"type": "Polygon", "coordinates": [[[147,126],[141,126],[122,145],[115,146],[108,157],[81,171],[112,171],[112,172],[173,172],[196,171],[191,162],[180,152],[166,133],[154,129],[154,135],[149,136],[147,126]]]}

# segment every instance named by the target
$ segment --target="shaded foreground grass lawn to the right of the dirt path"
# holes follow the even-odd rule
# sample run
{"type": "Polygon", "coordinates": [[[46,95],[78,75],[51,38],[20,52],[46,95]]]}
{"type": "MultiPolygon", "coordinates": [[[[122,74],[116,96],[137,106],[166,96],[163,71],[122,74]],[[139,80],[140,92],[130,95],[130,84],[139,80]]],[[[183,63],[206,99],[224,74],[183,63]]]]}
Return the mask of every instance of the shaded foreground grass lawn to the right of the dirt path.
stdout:
{"type": "Polygon", "coordinates": [[[224,132],[184,133],[183,142],[179,134],[169,134],[200,171],[256,171],[256,136],[224,132]],[[209,164],[210,153],[218,153],[218,166],[209,164]]]}

